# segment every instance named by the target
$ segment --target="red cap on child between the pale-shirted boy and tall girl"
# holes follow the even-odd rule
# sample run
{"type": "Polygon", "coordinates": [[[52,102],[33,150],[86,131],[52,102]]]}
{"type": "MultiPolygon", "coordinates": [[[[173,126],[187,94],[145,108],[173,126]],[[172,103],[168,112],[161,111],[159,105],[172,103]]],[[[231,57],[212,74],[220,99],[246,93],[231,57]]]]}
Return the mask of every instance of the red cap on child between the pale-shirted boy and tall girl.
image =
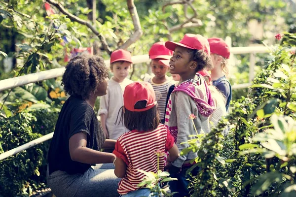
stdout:
{"type": "Polygon", "coordinates": [[[150,59],[164,59],[170,60],[173,56],[173,51],[165,47],[165,42],[156,42],[154,43],[149,50],[150,59]]]}

